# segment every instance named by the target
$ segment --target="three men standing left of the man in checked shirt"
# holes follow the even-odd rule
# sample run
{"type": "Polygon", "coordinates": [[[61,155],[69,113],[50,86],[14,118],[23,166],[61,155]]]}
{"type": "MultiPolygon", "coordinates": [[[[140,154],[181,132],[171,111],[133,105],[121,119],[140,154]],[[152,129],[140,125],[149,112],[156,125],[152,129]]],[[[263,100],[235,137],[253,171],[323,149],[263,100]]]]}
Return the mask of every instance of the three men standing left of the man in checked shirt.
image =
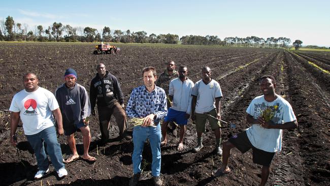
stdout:
{"type": "Polygon", "coordinates": [[[83,136],[84,153],[81,158],[88,162],[96,161],[95,157],[88,154],[91,142],[89,116],[96,114],[96,104],[100,120],[100,142],[104,144],[110,138],[111,115],[116,118],[119,139],[131,139],[126,133],[123,94],[117,78],[110,74],[102,63],[97,65],[96,70],[96,77],[90,84],[90,99],[85,87],[76,82],[78,76],[74,69],[65,71],[64,83],[56,88],[54,94],[38,86],[39,80],[35,73],[30,72],[23,76],[24,89],[14,96],[10,106],[11,142],[13,145],[17,143],[15,133],[19,118],[21,118],[24,134],[37,158],[39,171],[35,175],[36,179],[43,177],[49,171],[45,146],[58,176],[63,177],[68,174],[63,163],[71,163],[79,159],[74,137],[77,131],[80,131],[83,136]],[[67,137],[72,151],[72,156],[67,160],[62,159],[53,114],[56,119],[57,134],[64,134],[67,137]]]}

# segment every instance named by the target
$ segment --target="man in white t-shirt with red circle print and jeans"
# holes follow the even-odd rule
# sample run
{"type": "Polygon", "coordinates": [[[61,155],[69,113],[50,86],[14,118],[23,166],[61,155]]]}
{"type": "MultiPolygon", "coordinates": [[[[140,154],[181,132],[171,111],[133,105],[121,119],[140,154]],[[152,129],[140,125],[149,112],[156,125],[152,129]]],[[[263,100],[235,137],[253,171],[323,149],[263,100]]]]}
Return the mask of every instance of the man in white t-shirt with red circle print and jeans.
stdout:
{"type": "Polygon", "coordinates": [[[58,103],[52,92],[39,87],[39,80],[35,73],[27,73],[23,76],[23,90],[19,91],[13,98],[9,110],[10,114],[10,142],[16,146],[15,136],[19,118],[23,122],[24,134],[35,151],[39,171],[35,178],[42,178],[48,171],[47,153],[58,174],[58,177],[68,175],[64,168],[62,152],[56,138],[53,114],[57,121],[57,132],[63,135],[62,115],[58,103]]]}

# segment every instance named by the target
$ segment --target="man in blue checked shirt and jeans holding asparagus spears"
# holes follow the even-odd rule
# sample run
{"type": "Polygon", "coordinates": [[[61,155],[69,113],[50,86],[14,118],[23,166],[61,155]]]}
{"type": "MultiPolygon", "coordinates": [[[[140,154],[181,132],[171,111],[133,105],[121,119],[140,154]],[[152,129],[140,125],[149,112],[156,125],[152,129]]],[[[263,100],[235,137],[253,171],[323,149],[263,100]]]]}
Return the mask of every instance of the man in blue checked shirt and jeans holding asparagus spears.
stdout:
{"type": "Polygon", "coordinates": [[[155,185],[161,185],[160,179],[160,140],[161,129],[159,122],[167,114],[167,100],[165,91],[155,85],[157,79],[154,67],[143,69],[144,85],[139,86],[130,94],[126,113],[130,118],[143,118],[141,126],[134,127],[132,155],[134,175],[129,181],[129,185],[137,185],[141,175],[142,150],[146,139],[149,139],[152,164],[151,174],[155,185]]]}

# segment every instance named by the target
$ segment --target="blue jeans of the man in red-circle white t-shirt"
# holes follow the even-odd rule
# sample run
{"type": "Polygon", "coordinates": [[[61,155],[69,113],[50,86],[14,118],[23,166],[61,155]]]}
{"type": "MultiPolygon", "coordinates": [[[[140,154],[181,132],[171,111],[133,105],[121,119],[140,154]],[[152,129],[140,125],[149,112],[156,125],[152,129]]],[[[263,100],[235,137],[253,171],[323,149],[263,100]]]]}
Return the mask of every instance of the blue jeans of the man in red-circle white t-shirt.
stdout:
{"type": "Polygon", "coordinates": [[[35,151],[39,170],[47,170],[49,166],[44,143],[46,143],[47,153],[55,170],[64,168],[62,151],[57,142],[54,126],[44,129],[38,134],[26,135],[26,138],[35,151]]]}

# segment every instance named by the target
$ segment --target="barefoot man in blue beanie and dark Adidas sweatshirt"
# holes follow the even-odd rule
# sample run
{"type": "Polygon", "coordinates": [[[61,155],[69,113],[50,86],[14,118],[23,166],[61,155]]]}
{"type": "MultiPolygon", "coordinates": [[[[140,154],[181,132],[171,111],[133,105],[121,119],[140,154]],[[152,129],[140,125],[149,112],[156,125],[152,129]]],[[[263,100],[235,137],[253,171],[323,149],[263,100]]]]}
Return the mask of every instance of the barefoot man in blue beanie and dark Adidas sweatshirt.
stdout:
{"type": "Polygon", "coordinates": [[[63,116],[64,134],[72,151],[72,156],[64,163],[70,163],[79,158],[74,133],[81,131],[83,135],[84,155],[83,159],[94,162],[96,159],[89,156],[90,131],[88,127],[88,116],[90,115],[90,102],[85,87],[76,83],[77,73],[68,69],[64,73],[65,83],[57,87],[55,97],[63,116]]]}

